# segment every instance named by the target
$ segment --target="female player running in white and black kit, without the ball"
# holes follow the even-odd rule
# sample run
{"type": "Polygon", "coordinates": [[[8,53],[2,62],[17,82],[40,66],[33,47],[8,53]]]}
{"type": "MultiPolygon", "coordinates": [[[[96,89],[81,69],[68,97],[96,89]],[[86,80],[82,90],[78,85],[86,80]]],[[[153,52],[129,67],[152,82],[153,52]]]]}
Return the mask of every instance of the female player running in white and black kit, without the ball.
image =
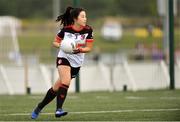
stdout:
{"type": "Polygon", "coordinates": [[[73,40],[77,46],[72,54],[67,54],[61,48],[59,49],[56,60],[59,78],[31,113],[32,119],[36,119],[41,110],[55,97],[55,117],[61,117],[68,113],[63,111],[62,106],[66,99],[71,79],[75,78],[78,74],[83,64],[85,53],[90,52],[93,47],[93,30],[90,26],[86,25],[87,18],[84,9],[67,7],[65,13],[58,16],[56,21],[60,21],[63,28],[57,33],[53,46],[60,48],[63,39],[66,41],[73,40]]]}

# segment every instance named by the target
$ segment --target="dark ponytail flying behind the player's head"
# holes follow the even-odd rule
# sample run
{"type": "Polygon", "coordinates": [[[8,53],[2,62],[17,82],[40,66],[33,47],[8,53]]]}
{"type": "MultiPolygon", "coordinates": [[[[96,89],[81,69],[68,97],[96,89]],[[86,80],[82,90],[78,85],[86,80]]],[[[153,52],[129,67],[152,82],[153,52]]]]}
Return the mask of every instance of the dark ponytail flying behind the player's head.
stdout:
{"type": "Polygon", "coordinates": [[[56,22],[61,21],[61,25],[67,26],[74,23],[73,18],[71,17],[72,7],[67,7],[64,14],[57,17],[56,22]]]}

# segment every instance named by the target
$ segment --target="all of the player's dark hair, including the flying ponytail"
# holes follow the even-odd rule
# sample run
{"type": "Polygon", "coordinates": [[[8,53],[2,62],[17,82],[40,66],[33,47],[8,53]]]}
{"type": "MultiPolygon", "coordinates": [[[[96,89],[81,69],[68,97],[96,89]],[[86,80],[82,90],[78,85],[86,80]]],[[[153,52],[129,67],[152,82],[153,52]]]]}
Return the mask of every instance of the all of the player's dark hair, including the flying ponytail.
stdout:
{"type": "Polygon", "coordinates": [[[84,11],[83,8],[67,7],[64,14],[57,17],[56,22],[61,21],[61,25],[68,26],[74,24],[74,19],[77,19],[79,13],[84,11]]]}

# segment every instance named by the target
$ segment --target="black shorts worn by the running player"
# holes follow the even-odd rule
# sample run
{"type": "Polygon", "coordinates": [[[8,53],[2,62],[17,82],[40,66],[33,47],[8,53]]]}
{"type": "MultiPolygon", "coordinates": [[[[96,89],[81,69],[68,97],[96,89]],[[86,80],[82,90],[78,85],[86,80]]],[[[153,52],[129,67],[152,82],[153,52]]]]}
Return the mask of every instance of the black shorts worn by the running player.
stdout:
{"type": "Polygon", "coordinates": [[[80,70],[80,67],[72,67],[69,63],[69,61],[66,58],[59,58],[57,57],[56,59],[56,67],[58,67],[59,65],[66,65],[66,66],[70,66],[71,68],[71,78],[75,78],[80,70]]]}

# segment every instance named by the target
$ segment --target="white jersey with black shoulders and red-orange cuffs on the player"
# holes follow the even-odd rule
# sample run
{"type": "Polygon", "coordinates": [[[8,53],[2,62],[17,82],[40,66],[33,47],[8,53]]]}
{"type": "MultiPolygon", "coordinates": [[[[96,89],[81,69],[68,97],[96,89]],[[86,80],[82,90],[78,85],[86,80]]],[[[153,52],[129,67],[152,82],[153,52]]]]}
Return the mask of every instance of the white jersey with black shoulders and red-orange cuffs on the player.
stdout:
{"type": "MultiPolygon", "coordinates": [[[[90,26],[86,25],[81,30],[75,30],[73,26],[63,27],[56,36],[56,41],[61,40],[73,40],[78,47],[85,46],[86,42],[93,42],[93,30],[90,26]]],[[[84,53],[67,54],[61,49],[59,50],[57,57],[66,58],[72,67],[80,67],[84,62],[84,53]]]]}

